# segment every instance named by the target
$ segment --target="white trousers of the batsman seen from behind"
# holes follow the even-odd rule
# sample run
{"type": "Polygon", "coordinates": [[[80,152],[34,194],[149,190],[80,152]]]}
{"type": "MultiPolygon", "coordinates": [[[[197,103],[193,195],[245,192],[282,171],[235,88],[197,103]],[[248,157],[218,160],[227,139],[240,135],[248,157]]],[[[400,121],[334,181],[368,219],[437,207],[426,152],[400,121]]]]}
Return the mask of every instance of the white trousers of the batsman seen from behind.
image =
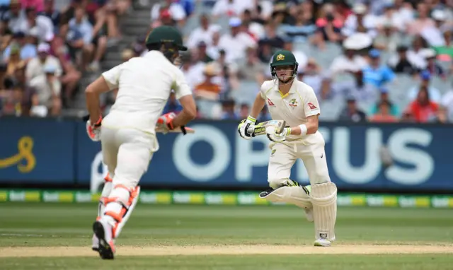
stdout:
{"type": "Polygon", "coordinates": [[[128,188],[137,187],[148,170],[156,137],[137,129],[110,129],[102,127],[101,145],[103,161],[113,179],[128,188]]]}

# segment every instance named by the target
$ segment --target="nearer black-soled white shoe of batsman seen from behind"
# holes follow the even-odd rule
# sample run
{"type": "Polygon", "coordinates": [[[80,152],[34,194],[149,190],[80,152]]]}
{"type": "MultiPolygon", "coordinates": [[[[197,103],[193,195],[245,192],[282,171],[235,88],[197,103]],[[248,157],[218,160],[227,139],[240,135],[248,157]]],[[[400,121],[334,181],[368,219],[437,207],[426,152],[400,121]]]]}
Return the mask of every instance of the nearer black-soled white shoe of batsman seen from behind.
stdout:
{"type": "Polygon", "coordinates": [[[115,243],[112,237],[112,226],[103,219],[93,223],[93,233],[98,237],[99,256],[102,259],[113,259],[115,254],[115,243]]]}

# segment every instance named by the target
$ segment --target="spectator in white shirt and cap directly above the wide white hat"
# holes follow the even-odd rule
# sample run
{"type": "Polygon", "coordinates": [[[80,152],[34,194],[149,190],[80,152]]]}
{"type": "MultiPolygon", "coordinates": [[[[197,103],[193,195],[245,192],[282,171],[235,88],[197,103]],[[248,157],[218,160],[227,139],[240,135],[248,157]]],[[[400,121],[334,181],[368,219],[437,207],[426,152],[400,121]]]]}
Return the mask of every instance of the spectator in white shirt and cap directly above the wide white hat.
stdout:
{"type": "Polygon", "coordinates": [[[370,37],[376,37],[376,23],[374,17],[367,13],[367,6],[359,3],[352,8],[354,14],[350,15],[346,21],[341,33],[346,37],[354,33],[367,33],[370,37]]]}

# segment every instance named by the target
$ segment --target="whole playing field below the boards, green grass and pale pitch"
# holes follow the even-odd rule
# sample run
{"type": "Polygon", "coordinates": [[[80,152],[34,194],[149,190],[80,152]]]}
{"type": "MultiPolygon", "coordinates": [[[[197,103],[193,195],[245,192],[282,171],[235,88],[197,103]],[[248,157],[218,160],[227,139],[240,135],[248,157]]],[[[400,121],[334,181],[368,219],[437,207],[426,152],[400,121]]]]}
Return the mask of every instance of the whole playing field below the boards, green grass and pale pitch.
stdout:
{"type": "MultiPolygon", "coordinates": [[[[109,269],[90,249],[96,204],[1,203],[0,269],[109,269]],[[52,257],[52,258],[50,258],[52,257]]],[[[450,209],[338,209],[313,247],[295,206],[139,204],[117,240],[127,269],[453,269],[450,209]],[[322,254],[321,254],[322,253],[322,254]]]]}

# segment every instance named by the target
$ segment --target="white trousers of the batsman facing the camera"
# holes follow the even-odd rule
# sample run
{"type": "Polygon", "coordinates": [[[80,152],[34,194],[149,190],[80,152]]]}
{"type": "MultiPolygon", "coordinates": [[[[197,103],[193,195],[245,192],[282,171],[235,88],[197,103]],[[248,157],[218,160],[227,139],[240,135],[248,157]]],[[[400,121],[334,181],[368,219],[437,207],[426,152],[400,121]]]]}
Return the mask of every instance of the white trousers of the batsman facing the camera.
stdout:
{"type": "Polygon", "coordinates": [[[321,133],[316,132],[305,141],[285,141],[271,143],[268,165],[268,182],[273,189],[281,187],[289,179],[291,168],[297,158],[302,159],[310,184],[331,182],[328,175],[325,141],[321,133]]]}

